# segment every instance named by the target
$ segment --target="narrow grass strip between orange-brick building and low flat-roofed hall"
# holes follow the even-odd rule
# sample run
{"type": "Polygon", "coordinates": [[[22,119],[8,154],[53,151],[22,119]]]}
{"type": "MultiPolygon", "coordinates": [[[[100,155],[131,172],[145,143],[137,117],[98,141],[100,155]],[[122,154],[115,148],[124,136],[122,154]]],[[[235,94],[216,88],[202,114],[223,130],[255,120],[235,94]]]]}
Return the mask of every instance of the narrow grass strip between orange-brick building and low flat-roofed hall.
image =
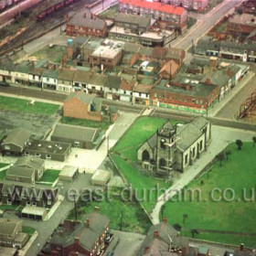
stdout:
{"type": "Polygon", "coordinates": [[[72,117],[62,117],[60,123],[79,125],[84,127],[98,128],[101,131],[106,131],[112,123],[110,122],[97,122],[92,120],[77,119],[72,117]]]}

